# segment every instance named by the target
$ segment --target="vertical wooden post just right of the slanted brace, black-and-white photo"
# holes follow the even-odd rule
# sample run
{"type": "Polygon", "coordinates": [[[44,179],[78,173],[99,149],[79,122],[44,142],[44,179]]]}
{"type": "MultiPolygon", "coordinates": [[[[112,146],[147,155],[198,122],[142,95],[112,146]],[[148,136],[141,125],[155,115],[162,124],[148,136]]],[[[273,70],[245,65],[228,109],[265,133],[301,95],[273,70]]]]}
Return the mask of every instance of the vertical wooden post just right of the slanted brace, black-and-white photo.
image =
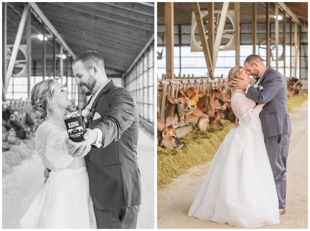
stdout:
{"type": "MultiPolygon", "coordinates": [[[[43,38],[44,40],[44,38],[43,38]]],[[[27,43],[27,99],[30,100],[30,76],[31,76],[31,12],[27,15],[26,22],[26,43],[27,43]]]]}

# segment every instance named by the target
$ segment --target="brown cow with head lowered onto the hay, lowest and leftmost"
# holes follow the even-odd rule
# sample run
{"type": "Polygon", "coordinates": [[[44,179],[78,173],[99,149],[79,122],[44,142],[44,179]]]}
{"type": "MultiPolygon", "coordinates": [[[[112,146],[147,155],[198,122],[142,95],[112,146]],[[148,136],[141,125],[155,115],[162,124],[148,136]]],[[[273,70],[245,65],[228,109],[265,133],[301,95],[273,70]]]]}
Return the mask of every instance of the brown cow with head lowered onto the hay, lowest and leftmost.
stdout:
{"type": "Polygon", "coordinates": [[[182,142],[176,136],[175,129],[172,125],[166,127],[166,125],[157,119],[157,139],[158,146],[165,146],[171,149],[181,149],[183,147],[182,142]]]}

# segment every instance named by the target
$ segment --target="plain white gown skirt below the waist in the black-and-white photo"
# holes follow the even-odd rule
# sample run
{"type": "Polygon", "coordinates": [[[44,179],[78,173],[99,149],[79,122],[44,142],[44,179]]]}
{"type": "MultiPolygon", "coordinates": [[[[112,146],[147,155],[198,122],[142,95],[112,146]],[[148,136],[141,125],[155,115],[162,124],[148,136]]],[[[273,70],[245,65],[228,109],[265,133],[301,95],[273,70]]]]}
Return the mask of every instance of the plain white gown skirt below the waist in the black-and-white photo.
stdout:
{"type": "Polygon", "coordinates": [[[21,229],[96,229],[86,167],[51,170],[44,187],[30,194],[22,207],[21,229]]]}

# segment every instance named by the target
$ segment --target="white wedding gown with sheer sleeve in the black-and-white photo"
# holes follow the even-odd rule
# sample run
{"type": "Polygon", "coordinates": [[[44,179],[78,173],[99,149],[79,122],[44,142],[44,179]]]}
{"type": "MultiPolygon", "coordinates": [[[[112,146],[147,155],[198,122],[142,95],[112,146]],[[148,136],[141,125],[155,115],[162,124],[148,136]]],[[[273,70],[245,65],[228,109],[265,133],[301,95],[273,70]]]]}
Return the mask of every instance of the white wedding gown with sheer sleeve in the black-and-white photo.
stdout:
{"type": "Polygon", "coordinates": [[[68,155],[66,137],[66,130],[51,123],[38,127],[36,149],[51,172],[44,187],[24,199],[18,228],[97,228],[85,160],[68,155]]]}

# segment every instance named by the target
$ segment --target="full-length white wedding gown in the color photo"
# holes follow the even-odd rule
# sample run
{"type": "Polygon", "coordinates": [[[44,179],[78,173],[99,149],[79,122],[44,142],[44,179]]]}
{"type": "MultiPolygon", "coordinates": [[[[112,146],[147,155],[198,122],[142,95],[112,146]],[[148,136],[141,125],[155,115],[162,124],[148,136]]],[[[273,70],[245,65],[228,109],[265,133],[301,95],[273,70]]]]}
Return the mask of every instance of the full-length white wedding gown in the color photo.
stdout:
{"type": "Polygon", "coordinates": [[[231,104],[239,126],[216,151],[188,216],[238,228],[278,224],[277,191],[259,118],[262,108],[241,93],[232,95],[231,104]]]}

